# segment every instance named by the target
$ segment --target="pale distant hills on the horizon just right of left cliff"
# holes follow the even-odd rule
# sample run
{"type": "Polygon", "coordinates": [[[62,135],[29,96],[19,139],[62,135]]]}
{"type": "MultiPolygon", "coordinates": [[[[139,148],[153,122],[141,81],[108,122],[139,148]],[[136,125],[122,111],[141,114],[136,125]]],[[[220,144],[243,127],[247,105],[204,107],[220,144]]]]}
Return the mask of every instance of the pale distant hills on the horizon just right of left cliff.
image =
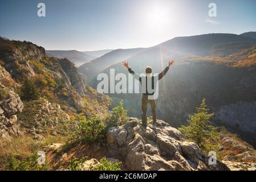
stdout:
{"type": "Polygon", "coordinates": [[[95,59],[96,57],[87,55],[86,53],[79,52],[76,50],[70,50],[70,51],[46,51],[47,56],[50,57],[57,57],[60,59],[67,58],[71,60],[76,67],[79,67],[80,65],[87,63],[88,61],[91,61],[95,59]]]}

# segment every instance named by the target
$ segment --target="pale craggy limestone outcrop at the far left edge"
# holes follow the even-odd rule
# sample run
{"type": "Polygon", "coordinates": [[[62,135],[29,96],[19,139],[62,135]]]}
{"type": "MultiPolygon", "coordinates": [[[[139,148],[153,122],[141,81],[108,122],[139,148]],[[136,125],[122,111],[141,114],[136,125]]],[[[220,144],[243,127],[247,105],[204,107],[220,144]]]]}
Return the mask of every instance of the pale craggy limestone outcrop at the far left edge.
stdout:
{"type": "Polygon", "coordinates": [[[22,131],[17,124],[17,114],[22,112],[23,102],[12,89],[2,84],[0,84],[0,89],[4,92],[0,100],[0,137],[22,135],[22,131]]]}

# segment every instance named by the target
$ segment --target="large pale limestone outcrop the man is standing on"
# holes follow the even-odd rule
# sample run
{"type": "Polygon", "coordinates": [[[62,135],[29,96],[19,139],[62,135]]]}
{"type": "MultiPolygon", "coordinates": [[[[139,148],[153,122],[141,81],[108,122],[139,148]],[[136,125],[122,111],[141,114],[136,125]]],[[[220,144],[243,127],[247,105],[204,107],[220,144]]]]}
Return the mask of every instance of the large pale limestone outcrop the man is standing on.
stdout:
{"type": "Polygon", "coordinates": [[[129,120],[107,131],[109,153],[124,159],[128,170],[229,170],[218,160],[208,164],[209,157],[197,144],[186,142],[168,123],[149,122],[145,129],[139,119],[129,120]]]}

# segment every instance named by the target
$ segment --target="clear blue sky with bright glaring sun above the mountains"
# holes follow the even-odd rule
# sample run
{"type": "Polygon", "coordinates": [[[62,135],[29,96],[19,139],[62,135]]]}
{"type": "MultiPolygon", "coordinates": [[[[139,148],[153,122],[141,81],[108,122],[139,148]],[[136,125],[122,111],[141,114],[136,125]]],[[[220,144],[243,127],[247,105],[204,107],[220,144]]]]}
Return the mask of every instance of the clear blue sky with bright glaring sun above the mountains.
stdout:
{"type": "Polygon", "coordinates": [[[46,49],[151,47],[177,36],[248,31],[256,31],[255,0],[0,1],[0,36],[46,49]],[[45,17],[38,3],[46,5],[45,17]]]}

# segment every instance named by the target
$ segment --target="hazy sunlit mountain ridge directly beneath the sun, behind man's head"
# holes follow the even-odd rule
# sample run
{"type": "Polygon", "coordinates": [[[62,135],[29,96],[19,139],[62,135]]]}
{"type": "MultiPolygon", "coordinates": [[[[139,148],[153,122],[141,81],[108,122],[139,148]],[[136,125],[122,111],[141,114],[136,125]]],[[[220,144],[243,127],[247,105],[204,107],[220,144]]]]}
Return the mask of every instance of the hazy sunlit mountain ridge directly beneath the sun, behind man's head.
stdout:
{"type": "MultiPolygon", "coordinates": [[[[95,76],[109,65],[124,59],[135,60],[134,63],[155,65],[160,71],[160,61],[181,55],[227,56],[242,49],[253,47],[256,39],[235,34],[205,34],[170,39],[150,48],[116,49],[79,67],[88,82],[94,85],[95,76]]],[[[141,68],[142,71],[142,68],[141,68]]]]}

